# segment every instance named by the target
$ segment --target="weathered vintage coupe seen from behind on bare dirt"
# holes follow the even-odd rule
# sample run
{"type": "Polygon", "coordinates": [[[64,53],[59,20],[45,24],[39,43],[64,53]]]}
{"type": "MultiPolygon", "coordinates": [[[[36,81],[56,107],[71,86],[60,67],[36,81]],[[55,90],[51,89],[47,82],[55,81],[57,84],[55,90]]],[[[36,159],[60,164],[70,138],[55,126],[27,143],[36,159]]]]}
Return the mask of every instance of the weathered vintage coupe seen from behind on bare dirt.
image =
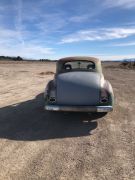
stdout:
{"type": "Polygon", "coordinates": [[[57,61],[55,77],[47,84],[44,98],[49,111],[109,112],[114,102],[100,60],[80,56],[57,61]]]}

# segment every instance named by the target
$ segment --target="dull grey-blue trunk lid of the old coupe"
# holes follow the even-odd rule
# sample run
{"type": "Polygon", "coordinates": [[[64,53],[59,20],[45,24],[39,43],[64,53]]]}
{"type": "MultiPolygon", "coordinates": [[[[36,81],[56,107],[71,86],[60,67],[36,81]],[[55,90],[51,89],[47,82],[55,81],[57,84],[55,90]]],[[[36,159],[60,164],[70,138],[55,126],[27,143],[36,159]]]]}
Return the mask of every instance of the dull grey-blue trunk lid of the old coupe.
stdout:
{"type": "Polygon", "coordinates": [[[97,105],[100,101],[100,74],[67,72],[58,74],[57,103],[59,105],[97,105]]]}

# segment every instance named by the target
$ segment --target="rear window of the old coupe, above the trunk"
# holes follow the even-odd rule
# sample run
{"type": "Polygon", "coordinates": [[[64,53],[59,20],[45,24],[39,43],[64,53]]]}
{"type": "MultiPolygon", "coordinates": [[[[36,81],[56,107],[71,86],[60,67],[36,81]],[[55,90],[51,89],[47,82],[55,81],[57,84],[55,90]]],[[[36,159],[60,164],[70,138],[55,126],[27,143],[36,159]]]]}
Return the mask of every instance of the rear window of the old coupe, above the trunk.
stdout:
{"type": "Polygon", "coordinates": [[[63,71],[95,71],[95,63],[92,61],[71,61],[63,64],[63,71]]]}

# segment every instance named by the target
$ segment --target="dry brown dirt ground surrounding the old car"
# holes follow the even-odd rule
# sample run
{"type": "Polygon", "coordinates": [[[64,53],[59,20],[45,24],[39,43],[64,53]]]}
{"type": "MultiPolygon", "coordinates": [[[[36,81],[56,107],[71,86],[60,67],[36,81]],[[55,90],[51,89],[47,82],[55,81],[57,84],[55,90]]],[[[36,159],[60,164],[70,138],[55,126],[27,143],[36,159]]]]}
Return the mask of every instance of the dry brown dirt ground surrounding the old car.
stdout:
{"type": "Polygon", "coordinates": [[[117,66],[104,64],[114,111],[98,117],[43,110],[55,63],[0,62],[0,180],[135,179],[135,71],[117,66]]]}

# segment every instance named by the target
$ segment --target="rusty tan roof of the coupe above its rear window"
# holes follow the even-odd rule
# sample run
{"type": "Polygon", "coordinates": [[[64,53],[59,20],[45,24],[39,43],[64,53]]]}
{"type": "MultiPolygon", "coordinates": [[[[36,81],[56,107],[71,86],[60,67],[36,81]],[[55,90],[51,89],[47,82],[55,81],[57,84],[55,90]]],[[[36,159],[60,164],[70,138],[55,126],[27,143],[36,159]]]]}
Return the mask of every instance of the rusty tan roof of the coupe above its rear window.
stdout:
{"type": "Polygon", "coordinates": [[[65,57],[65,58],[61,58],[58,60],[58,63],[59,62],[68,62],[68,61],[77,61],[77,60],[80,60],[80,61],[92,61],[92,62],[99,62],[100,60],[97,59],[97,58],[94,58],[94,57],[89,57],[89,56],[73,56],[73,57],[65,57]]]}

